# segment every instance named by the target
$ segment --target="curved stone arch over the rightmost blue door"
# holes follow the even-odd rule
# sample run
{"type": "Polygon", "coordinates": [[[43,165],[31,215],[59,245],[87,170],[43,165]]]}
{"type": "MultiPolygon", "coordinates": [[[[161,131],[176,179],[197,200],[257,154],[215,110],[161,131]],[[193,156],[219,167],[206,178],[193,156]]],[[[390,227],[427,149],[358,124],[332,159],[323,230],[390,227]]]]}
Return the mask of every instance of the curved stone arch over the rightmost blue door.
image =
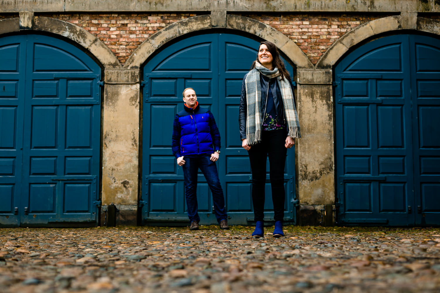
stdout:
{"type": "Polygon", "coordinates": [[[440,21],[422,17],[403,19],[402,15],[396,15],[366,22],[337,40],[319,59],[315,68],[331,69],[352,46],[371,36],[401,29],[416,29],[418,31],[440,35],[440,21]]]}

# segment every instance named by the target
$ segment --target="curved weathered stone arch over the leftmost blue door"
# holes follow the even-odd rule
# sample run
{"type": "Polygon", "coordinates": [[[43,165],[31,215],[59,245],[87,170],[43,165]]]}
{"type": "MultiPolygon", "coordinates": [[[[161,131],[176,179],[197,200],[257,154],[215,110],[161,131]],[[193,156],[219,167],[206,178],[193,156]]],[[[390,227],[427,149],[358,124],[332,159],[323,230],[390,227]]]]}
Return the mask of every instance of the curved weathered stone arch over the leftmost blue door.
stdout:
{"type": "MultiPolygon", "coordinates": [[[[35,16],[31,28],[36,31],[55,33],[73,40],[90,51],[106,69],[121,68],[113,52],[101,40],[85,29],[55,18],[35,16]]],[[[0,20],[0,34],[14,33],[20,30],[19,18],[0,20]]]]}

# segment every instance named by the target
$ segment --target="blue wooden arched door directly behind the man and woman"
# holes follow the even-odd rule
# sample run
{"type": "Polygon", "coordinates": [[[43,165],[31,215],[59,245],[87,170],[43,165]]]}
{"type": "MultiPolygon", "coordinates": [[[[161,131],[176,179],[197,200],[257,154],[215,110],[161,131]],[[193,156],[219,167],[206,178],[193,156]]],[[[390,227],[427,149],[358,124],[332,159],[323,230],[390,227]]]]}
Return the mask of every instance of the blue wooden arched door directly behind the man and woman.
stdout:
{"type": "MultiPolygon", "coordinates": [[[[192,87],[201,106],[209,107],[221,135],[217,161],[231,224],[253,221],[251,173],[247,152],[241,148],[238,105],[242,79],[257,56],[259,42],[243,36],[213,33],[180,40],[147,62],[143,69],[142,215],[144,223],[187,223],[183,171],[172,156],[172,123],[183,109],[182,91],[192,87]]],[[[286,67],[293,73],[292,66],[286,67]]],[[[269,166],[269,164],[268,164],[269,166]]],[[[286,217],[295,221],[293,198],[294,151],[288,152],[286,217]]],[[[198,207],[202,224],[216,224],[212,195],[201,173],[198,207]]],[[[271,189],[267,184],[267,220],[273,218],[271,189]]]]}

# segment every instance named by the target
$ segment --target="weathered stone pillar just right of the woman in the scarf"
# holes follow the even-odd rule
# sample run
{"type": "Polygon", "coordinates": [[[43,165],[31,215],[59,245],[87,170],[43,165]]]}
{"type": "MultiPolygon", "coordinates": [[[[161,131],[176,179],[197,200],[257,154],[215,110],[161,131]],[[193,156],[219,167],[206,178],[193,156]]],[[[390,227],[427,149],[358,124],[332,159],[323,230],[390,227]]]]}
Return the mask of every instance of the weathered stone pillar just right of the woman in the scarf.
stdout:
{"type": "Polygon", "coordinates": [[[331,70],[298,69],[298,224],[317,225],[334,204],[334,123],[331,70]]]}

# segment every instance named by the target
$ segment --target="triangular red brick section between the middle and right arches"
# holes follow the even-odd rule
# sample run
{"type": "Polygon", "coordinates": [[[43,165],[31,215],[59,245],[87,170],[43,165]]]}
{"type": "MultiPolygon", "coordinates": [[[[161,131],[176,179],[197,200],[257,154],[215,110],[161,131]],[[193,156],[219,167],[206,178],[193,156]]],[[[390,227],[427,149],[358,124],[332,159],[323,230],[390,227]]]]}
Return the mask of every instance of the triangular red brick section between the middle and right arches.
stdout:
{"type": "Polygon", "coordinates": [[[377,18],[375,14],[240,14],[264,22],[293,40],[313,64],[348,31],[377,18]]]}

